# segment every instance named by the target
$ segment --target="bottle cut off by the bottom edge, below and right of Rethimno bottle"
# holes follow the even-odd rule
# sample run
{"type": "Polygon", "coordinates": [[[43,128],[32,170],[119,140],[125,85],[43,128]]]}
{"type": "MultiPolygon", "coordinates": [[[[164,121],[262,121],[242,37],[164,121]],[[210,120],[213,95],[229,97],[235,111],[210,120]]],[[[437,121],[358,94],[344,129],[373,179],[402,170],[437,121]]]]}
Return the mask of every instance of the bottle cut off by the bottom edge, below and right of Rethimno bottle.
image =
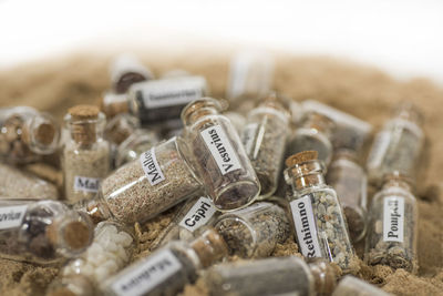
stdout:
{"type": "Polygon", "coordinates": [[[344,276],[332,296],[389,296],[391,294],[351,275],[344,276]]]}

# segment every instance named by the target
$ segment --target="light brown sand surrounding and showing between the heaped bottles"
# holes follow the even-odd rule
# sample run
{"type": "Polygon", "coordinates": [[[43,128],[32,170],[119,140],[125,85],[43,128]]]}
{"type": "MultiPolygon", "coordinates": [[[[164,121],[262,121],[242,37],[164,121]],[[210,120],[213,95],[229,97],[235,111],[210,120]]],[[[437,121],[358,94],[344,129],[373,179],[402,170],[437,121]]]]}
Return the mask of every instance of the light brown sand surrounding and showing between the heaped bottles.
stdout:
{"type": "MultiPolygon", "coordinates": [[[[174,68],[186,69],[207,78],[216,98],[224,96],[228,73],[228,58],[233,52],[209,51],[165,53],[143,51],[142,61],[159,74],[174,68]],[[188,57],[198,57],[189,59],[188,57]]],[[[135,52],[137,53],[137,52],[135,52]]],[[[138,52],[140,53],[140,52],[138,52]]],[[[0,105],[30,105],[53,114],[62,122],[66,109],[79,103],[99,104],[102,93],[110,86],[107,67],[110,59],[99,55],[37,62],[0,72],[0,105]],[[44,69],[44,72],[41,71],[44,69]],[[61,98],[64,98],[61,100],[61,98]]],[[[362,265],[359,276],[396,295],[443,295],[443,217],[441,175],[443,175],[443,118],[441,105],[443,89],[430,81],[415,79],[399,82],[379,70],[338,62],[323,58],[296,58],[279,54],[276,69],[276,88],[295,100],[315,99],[367,120],[380,127],[389,118],[390,109],[403,99],[420,105],[425,115],[424,130],[432,136],[427,180],[433,191],[419,192],[419,274],[404,269],[392,271],[388,266],[362,265]],[[290,82],[290,83],[288,83],[290,82]],[[358,99],[358,100],[357,100],[358,99]]],[[[141,247],[136,258],[150,254],[150,246],[171,220],[172,212],[138,227],[141,247]]],[[[359,247],[357,247],[359,249],[359,247]]],[[[297,244],[288,239],[279,244],[275,256],[298,254],[297,244]]],[[[360,248],[361,249],[361,248],[360,248]]],[[[359,255],[361,253],[358,252],[359,255]]],[[[1,295],[44,295],[44,289],[55,277],[56,268],[42,268],[0,259],[1,295]]],[[[197,280],[185,288],[185,295],[206,295],[197,280]]]]}

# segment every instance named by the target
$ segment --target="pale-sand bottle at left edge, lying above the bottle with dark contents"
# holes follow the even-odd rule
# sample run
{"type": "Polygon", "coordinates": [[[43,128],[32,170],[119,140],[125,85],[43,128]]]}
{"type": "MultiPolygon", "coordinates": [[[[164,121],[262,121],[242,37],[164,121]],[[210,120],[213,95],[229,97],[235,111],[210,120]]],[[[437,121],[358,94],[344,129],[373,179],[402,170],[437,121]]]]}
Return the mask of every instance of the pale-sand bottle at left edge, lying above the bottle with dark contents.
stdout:
{"type": "Polygon", "coordinates": [[[0,163],[0,196],[32,200],[56,200],[55,185],[17,167],[0,163]]]}

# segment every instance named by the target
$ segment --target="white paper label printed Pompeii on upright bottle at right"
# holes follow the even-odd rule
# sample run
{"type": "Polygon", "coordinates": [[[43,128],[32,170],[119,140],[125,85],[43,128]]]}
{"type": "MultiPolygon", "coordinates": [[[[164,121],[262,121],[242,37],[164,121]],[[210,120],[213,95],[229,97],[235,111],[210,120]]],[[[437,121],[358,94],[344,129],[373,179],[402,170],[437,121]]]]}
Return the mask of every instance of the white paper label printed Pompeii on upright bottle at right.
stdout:
{"type": "Polygon", "coordinates": [[[383,241],[403,243],[404,198],[385,197],[383,201],[383,241]]]}

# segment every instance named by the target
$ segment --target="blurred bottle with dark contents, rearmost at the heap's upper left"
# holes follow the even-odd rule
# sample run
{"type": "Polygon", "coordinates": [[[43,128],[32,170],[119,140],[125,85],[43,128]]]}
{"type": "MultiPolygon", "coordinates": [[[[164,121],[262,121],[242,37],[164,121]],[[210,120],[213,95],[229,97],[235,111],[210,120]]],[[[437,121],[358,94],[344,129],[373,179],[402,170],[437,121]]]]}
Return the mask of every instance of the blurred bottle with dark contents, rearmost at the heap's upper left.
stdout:
{"type": "Polygon", "coordinates": [[[121,54],[112,63],[111,82],[115,93],[125,93],[134,83],[154,79],[153,73],[134,55],[121,54]]]}

